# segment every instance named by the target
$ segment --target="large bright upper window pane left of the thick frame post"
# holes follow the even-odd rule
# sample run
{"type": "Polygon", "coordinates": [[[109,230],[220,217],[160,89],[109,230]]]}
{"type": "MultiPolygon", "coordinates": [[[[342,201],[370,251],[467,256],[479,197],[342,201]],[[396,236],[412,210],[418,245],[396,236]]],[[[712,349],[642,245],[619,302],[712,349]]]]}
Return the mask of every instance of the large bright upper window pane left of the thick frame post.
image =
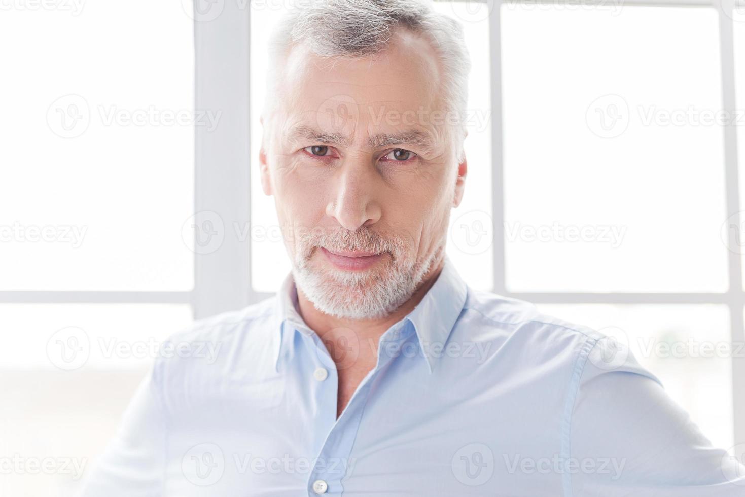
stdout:
{"type": "Polygon", "coordinates": [[[178,1],[52,4],[81,10],[0,16],[0,288],[188,290],[192,21],[178,1]]]}

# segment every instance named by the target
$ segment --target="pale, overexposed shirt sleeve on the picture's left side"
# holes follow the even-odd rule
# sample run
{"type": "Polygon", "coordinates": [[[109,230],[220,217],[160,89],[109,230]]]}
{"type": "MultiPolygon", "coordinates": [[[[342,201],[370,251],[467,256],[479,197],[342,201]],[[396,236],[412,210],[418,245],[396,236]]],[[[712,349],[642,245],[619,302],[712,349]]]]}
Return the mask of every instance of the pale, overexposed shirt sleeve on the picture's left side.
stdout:
{"type": "Polygon", "coordinates": [[[139,384],[115,436],[92,466],[79,497],[163,495],[165,414],[159,364],[139,384]]]}

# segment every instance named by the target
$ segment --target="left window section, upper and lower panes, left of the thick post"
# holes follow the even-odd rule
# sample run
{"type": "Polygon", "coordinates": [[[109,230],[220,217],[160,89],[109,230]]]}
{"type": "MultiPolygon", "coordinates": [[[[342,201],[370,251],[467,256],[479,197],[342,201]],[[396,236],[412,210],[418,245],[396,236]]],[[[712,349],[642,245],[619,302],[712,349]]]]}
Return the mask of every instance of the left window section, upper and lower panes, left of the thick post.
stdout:
{"type": "MultiPolygon", "coordinates": [[[[179,2],[5,2],[0,40],[0,457],[86,469],[193,320],[194,25],[179,2]]],[[[0,494],[78,484],[4,471],[0,494]]]]}

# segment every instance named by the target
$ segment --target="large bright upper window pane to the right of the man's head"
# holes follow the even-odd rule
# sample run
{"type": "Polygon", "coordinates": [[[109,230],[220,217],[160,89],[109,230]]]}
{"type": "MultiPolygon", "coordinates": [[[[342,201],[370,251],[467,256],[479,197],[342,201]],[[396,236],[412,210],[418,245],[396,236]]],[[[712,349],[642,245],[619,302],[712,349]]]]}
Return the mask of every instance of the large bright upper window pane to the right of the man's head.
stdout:
{"type": "Polygon", "coordinates": [[[717,23],[503,6],[511,291],[726,291],[717,23]]]}

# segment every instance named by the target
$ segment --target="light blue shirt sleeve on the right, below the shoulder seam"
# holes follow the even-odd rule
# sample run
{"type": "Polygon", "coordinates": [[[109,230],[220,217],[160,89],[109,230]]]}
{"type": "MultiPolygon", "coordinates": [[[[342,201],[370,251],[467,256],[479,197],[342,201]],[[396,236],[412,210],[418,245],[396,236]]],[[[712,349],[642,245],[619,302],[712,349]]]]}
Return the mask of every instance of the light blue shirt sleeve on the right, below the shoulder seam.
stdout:
{"type": "Polygon", "coordinates": [[[591,339],[562,443],[564,496],[745,497],[745,466],[715,448],[627,346],[591,339]]]}

